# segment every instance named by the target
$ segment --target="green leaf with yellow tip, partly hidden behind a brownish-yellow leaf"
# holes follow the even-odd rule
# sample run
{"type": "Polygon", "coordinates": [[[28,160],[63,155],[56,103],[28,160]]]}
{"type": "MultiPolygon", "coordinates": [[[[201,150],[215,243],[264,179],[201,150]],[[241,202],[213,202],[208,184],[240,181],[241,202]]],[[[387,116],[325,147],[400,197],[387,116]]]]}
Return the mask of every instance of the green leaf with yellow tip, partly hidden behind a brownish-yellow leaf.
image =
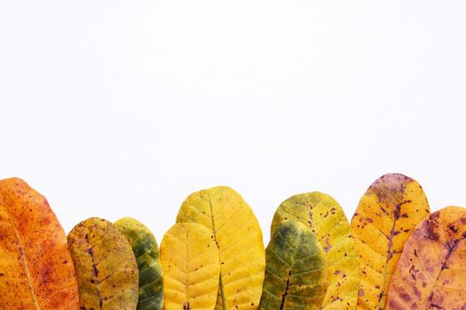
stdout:
{"type": "Polygon", "coordinates": [[[115,221],[114,225],[130,242],[138,262],[138,310],[161,310],[163,306],[162,265],[154,235],[141,222],[129,217],[115,221]]]}

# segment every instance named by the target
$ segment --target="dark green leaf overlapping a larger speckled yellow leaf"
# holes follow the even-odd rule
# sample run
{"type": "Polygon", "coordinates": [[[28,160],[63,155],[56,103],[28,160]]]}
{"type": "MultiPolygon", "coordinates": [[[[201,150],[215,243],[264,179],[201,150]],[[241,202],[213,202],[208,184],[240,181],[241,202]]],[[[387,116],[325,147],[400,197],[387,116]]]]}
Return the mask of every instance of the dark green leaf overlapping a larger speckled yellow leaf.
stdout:
{"type": "Polygon", "coordinates": [[[265,250],[260,308],[320,309],[328,285],[327,256],[300,221],[281,221],[265,250]]]}

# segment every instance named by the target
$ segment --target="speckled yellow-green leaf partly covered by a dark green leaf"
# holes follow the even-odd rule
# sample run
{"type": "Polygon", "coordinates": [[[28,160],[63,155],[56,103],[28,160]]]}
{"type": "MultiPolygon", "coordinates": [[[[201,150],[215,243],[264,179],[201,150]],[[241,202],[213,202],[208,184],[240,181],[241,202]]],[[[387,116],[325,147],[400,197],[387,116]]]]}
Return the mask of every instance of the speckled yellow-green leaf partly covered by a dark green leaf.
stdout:
{"type": "Polygon", "coordinates": [[[328,259],[328,290],[322,309],[354,309],[358,302],[359,255],[344,210],[327,194],[314,191],[288,198],[272,220],[273,231],[284,220],[312,229],[328,259]]]}

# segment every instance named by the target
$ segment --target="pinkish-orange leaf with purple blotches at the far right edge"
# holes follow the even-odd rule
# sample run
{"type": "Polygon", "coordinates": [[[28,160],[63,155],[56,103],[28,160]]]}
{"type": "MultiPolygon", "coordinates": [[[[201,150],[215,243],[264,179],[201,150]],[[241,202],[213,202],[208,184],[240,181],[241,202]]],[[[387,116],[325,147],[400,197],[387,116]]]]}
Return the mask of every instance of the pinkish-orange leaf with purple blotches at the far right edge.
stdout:
{"type": "Polygon", "coordinates": [[[391,278],[387,309],[466,308],[466,209],[449,206],[421,221],[391,278]]]}

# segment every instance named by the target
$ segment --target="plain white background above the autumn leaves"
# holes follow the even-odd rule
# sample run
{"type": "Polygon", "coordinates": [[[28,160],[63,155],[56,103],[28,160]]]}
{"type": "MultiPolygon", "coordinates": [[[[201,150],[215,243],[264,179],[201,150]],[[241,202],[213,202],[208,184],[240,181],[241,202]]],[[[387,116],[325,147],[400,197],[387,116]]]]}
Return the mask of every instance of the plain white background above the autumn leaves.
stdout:
{"type": "Polygon", "coordinates": [[[0,177],[66,231],[130,215],[157,239],[225,184],[269,239],[289,196],[351,219],[375,179],[466,206],[463,1],[2,1],[0,177]]]}

